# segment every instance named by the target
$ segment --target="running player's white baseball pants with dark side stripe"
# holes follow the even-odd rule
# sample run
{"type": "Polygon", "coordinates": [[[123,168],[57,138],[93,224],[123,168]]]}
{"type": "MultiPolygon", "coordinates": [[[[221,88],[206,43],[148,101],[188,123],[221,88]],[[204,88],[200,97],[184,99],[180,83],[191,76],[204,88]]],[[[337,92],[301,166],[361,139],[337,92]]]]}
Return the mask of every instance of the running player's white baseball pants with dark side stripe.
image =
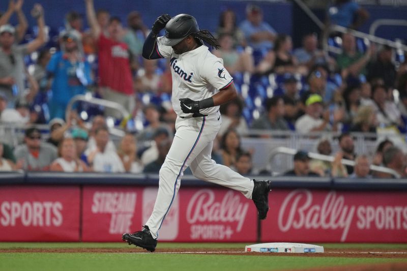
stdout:
{"type": "Polygon", "coordinates": [[[211,159],[220,124],[220,112],[206,117],[177,118],[177,132],[160,169],[156,202],[146,223],[154,238],[158,238],[158,231],[177,196],[183,172],[188,166],[195,177],[240,191],[246,198],[251,198],[253,180],[211,159]]]}

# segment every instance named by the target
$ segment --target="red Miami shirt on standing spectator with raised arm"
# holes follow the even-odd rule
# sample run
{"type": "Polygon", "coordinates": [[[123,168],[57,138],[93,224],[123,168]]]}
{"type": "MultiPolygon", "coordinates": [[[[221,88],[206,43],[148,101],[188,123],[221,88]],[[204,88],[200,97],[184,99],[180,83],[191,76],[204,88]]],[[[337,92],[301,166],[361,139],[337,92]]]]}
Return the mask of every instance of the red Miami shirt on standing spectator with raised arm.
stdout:
{"type": "Polygon", "coordinates": [[[98,39],[98,49],[100,85],[132,95],[133,79],[127,44],[113,41],[101,34],[98,39]]]}

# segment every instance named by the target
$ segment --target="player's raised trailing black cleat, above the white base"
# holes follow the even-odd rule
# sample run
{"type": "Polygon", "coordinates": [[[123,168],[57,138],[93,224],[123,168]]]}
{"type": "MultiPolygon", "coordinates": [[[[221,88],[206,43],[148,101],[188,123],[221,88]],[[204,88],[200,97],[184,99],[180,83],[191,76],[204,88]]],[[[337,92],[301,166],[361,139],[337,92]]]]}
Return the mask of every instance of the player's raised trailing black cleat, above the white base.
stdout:
{"type": "Polygon", "coordinates": [[[271,180],[255,180],[251,199],[257,208],[259,219],[266,219],[269,212],[269,192],[271,190],[271,180]]]}

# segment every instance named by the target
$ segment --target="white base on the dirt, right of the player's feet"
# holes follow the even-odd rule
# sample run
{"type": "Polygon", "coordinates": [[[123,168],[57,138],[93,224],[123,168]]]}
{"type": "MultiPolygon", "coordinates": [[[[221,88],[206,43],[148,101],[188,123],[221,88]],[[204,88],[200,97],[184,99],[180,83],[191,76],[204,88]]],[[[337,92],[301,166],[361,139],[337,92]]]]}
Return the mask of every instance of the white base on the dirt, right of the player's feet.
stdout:
{"type": "Polygon", "coordinates": [[[245,252],[321,253],[324,247],[298,243],[264,243],[245,247],[245,252]]]}

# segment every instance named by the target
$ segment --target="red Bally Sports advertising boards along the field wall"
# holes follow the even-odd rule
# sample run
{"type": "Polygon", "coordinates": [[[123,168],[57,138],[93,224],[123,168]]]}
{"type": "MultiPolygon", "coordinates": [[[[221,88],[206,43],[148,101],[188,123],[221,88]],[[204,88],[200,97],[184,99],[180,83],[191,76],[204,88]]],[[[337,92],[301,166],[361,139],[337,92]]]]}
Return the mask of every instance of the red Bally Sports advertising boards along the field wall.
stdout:
{"type": "MultiPolygon", "coordinates": [[[[156,187],[5,186],[1,241],[121,242],[151,214],[156,187]]],[[[407,242],[405,192],[274,189],[261,242],[407,242]]],[[[223,188],[185,187],[159,231],[173,242],[256,242],[254,204],[223,188]]]]}

